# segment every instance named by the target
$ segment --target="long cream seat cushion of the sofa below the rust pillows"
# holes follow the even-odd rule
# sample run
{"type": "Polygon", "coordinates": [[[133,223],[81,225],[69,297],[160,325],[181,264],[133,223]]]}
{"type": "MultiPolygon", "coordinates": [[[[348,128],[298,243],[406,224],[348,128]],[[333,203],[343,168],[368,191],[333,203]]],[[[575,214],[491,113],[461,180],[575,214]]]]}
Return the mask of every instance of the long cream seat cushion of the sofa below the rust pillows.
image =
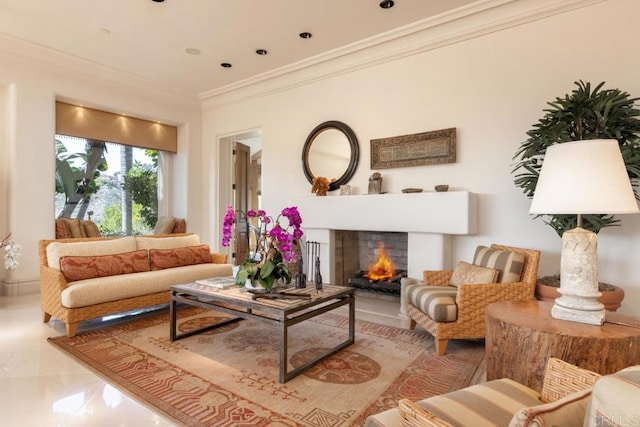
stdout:
{"type": "Polygon", "coordinates": [[[209,263],[98,277],[70,283],[62,291],[60,300],[64,307],[79,308],[158,292],[167,292],[168,298],[173,285],[231,276],[231,273],[231,264],[209,263]]]}

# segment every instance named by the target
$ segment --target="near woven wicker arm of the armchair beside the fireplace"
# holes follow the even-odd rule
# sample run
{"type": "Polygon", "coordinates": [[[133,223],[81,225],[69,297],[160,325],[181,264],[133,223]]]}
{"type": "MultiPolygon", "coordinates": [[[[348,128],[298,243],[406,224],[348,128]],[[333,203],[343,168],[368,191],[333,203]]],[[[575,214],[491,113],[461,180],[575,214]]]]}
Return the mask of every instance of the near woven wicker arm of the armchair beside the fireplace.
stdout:
{"type": "Polygon", "coordinates": [[[489,304],[498,301],[526,301],[534,298],[535,285],[524,282],[462,284],[458,286],[456,305],[458,322],[480,322],[489,304]]]}

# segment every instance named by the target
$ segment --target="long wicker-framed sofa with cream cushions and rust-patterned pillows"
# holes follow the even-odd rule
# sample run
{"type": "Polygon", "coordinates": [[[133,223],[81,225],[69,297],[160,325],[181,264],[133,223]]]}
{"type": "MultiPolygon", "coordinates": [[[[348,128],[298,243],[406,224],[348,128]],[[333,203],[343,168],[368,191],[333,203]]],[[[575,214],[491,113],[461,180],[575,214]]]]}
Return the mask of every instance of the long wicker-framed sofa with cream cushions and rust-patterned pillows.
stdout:
{"type": "Polygon", "coordinates": [[[43,319],[81,321],[169,302],[172,285],[232,274],[197,234],[41,240],[43,319]]]}

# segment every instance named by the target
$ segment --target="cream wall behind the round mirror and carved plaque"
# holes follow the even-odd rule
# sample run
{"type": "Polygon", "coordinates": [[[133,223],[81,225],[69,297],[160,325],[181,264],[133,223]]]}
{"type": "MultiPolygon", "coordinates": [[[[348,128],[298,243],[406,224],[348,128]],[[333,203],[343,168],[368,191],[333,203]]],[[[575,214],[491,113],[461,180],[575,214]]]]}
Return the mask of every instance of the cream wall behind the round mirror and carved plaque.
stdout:
{"type": "MultiPolygon", "coordinates": [[[[372,173],[371,139],[455,127],[455,164],[381,170],[384,189],[449,184],[477,193],[479,232],[454,237],[454,259],[468,260],[478,244],[499,242],[542,250],[541,275],[555,273],[560,240],[528,214],[530,201],[513,184],[512,156],[546,102],[572,91],[576,80],[606,81],[640,96],[639,15],[640,2],[609,0],[242,102],[205,99],[203,167],[212,185],[204,197],[217,198],[220,135],[262,128],[262,194],[275,212],[312,197],[300,158],[321,122],[340,120],[355,131],[361,157],[350,184],[360,193],[372,173]]],[[[221,220],[211,206],[208,236],[216,242],[221,220]]],[[[420,220],[420,212],[406,215],[420,220]]],[[[621,219],[621,227],[599,235],[600,279],[624,287],[621,311],[640,315],[640,215],[621,219]]]]}

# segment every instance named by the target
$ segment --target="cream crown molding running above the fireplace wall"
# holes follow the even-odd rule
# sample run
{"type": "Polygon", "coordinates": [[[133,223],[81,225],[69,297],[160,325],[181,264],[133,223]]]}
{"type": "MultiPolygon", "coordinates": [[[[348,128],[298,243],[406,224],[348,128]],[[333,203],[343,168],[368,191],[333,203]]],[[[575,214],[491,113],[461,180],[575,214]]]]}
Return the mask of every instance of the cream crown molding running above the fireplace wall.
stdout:
{"type": "Polygon", "coordinates": [[[202,110],[251,100],[608,0],[481,0],[199,95],[202,110]]]}

